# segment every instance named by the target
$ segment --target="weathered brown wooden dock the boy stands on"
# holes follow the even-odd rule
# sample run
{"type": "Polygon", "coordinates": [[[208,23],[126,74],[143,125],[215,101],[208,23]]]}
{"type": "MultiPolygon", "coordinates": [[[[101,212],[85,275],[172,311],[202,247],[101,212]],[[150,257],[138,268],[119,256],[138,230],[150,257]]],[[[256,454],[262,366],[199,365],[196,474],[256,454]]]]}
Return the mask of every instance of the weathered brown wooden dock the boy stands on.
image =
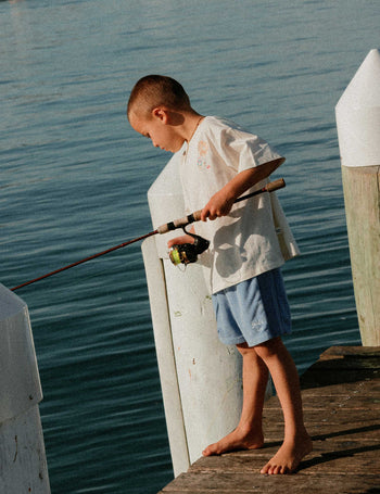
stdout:
{"type": "Polygon", "coordinates": [[[259,473],[283,438],[274,396],[265,404],[265,447],[200,458],[159,494],[380,493],[380,347],[333,346],[301,385],[314,451],[296,473],[259,473]]]}

